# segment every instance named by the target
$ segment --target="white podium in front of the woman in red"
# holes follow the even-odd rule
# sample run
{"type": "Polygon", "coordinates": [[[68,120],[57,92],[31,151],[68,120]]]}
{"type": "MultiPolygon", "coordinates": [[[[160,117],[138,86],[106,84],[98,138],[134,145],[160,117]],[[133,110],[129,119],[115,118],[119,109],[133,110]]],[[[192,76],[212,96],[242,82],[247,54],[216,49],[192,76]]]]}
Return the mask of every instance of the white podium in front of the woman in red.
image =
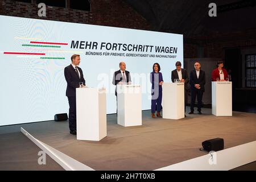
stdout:
{"type": "Polygon", "coordinates": [[[212,81],[212,114],[232,116],[231,81],[212,81]]]}

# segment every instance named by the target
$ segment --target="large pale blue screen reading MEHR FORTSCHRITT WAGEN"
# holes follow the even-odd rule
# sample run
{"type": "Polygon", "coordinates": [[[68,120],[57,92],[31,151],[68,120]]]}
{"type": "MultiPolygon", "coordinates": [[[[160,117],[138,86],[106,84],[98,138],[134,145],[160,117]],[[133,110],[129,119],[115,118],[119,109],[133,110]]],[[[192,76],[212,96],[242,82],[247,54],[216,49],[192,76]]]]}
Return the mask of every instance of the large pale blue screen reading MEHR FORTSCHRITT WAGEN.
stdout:
{"type": "Polygon", "coordinates": [[[150,109],[150,73],[159,63],[171,82],[183,64],[183,35],[0,15],[0,126],[53,120],[68,113],[64,68],[80,55],[88,87],[106,88],[107,114],[116,113],[113,73],[126,63],[150,109]]]}

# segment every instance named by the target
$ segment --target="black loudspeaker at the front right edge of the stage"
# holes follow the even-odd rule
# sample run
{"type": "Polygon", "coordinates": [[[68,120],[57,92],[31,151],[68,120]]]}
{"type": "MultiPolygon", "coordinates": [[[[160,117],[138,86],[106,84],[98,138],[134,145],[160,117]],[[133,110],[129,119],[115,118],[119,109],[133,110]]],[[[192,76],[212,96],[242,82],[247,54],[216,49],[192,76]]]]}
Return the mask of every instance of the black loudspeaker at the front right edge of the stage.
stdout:
{"type": "Polygon", "coordinates": [[[202,142],[202,146],[205,151],[219,151],[224,149],[224,139],[223,138],[213,138],[210,140],[205,140],[202,142]]]}

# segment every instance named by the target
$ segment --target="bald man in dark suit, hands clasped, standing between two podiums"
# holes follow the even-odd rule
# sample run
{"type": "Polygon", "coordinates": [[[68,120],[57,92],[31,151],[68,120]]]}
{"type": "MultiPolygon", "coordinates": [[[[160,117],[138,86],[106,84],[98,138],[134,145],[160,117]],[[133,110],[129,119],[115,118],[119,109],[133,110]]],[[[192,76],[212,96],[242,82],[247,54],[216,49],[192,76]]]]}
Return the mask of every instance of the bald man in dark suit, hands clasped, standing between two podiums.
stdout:
{"type": "Polygon", "coordinates": [[[194,106],[197,96],[197,111],[198,114],[201,113],[202,107],[202,99],[204,93],[204,85],[205,85],[205,72],[201,70],[201,64],[199,61],[196,61],[194,64],[195,69],[190,72],[189,75],[189,84],[191,85],[191,112],[188,114],[194,113],[194,106]]]}

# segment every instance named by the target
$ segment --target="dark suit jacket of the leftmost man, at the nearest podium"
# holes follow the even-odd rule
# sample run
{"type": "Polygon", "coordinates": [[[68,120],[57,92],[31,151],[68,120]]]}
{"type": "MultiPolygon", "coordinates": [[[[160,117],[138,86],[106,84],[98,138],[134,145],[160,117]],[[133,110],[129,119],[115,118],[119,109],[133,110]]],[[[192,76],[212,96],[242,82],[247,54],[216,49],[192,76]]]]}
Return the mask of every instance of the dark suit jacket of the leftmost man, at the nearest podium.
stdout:
{"type": "Polygon", "coordinates": [[[76,70],[73,68],[73,66],[70,64],[69,66],[65,67],[64,69],[64,75],[65,79],[67,81],[67,90],[66,90],[66,96],[67,97],[75,97],[76,96],[76,88],[79,88],[79,82],[84,82],[84,75],[82,74],[82,69],[77,67],[77,69],[80,72],[80,78],[76,73],[76,70]]]}

